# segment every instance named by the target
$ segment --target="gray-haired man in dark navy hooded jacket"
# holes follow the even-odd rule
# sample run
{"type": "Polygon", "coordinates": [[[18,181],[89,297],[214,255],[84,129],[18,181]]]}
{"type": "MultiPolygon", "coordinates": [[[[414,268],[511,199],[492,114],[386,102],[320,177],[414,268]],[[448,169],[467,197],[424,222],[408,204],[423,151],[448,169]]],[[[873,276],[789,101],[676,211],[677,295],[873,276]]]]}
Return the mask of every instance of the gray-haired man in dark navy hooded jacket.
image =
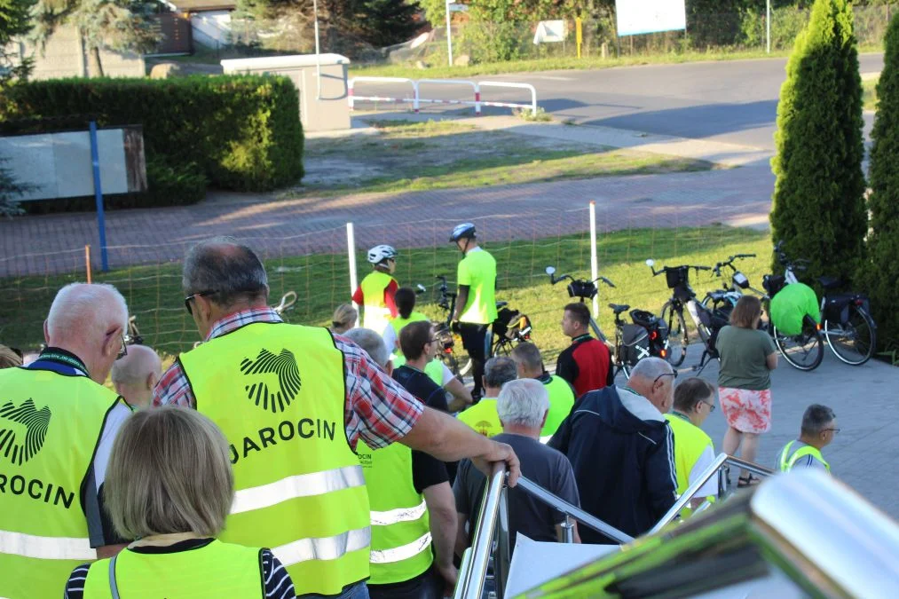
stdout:
{"type": "MultiPolygon", "coordinates": [[[[676,376],[659,358],[637,362],[625,387],[578,399],[548,443],[571,461],[583,509],[631,536],[652,528],[677,497],[674,439],[663,416],[676,376]]],[[[612,542],[586,527],[581,539],[612,542]]]]}

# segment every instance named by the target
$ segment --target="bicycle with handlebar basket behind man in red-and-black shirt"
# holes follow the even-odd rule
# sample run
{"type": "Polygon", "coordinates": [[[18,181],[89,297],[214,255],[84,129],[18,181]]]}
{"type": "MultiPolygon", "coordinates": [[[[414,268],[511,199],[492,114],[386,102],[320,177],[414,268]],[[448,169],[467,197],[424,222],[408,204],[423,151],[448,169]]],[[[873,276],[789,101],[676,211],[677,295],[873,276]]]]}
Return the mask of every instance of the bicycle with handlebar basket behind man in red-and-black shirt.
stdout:
{"type": "MultiPolygon", "coordinates": [[[[593,299],[599,293],[596,282],[603,282],[614,288],[615,283],[604,276],[599,276],[593,281],[574,279],[570,274],[556,277],[556,267],[547,266],[546,273],[549,282],[555,285],[557,282],[570,280],[567,291],[568,297],[578,298],[581,303],[587,299],[593,299]]],[[[614,376],[623,372],[625,377],[630,377],[630,369],[643,358],[651,355],[664,358],[668,353],[668,335],[664,324],[652,312],[641,309],[630,309],[627,304],[609,304],[615,315],[615,343],[611,344],[609,338],[602,332],[596,320],[590,317],[590,328],[593,335],[609,347],[609,352],[614,369],[614,376]],[[632,323],[621,318],[621,314],[630,310],[632,323]]]]}

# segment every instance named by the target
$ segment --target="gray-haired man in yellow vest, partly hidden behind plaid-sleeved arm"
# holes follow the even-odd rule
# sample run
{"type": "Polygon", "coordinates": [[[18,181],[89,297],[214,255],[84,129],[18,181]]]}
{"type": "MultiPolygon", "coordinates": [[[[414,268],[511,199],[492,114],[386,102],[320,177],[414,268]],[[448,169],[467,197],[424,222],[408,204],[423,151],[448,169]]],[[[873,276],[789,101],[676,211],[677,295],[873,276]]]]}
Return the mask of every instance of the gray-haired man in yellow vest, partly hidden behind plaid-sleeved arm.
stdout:
{"type": "MultiPolygon", "coordinates": [[[[393,370],[380,335],[356,328],[347,337],[388,374],[393,370]]],[[[441,597],[444,586],[452,589],[458,577],[452,561],[456,502],[446,466],[400,443],[360,451],[359,460],[371,504],[369,595],[441,597]]]]}

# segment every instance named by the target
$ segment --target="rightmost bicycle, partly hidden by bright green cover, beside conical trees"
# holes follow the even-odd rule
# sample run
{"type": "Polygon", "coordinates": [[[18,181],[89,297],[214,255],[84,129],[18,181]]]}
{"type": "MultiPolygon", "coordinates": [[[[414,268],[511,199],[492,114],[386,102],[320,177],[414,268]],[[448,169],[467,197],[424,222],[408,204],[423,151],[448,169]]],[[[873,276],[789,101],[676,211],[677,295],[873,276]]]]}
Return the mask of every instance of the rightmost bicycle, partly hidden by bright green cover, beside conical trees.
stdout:
{"type": "MultiPolygon", "coordinates": [[[[809,262],[804,259],[791,261],[783,250],[783,241],[774,246],[774,252],[785,270],[782,277],[769,276],[772,296],[784,285],[798,282],[796,273],[804,271],[804,263],[809,262]]],[[[824,290],[820,303],[822,324],[816,326],[819,336],[826,338],[831,352],[841,362],[850,366],[868,362],[877,347],[877,324],[870,316],[868,298],[856,292],[829,294],[828,291],[841,287],[840,279],[819,277],[818,282],[824,290]]],[[[818,353],[823,358],[822,347],[818,348],[818,353]]]]}

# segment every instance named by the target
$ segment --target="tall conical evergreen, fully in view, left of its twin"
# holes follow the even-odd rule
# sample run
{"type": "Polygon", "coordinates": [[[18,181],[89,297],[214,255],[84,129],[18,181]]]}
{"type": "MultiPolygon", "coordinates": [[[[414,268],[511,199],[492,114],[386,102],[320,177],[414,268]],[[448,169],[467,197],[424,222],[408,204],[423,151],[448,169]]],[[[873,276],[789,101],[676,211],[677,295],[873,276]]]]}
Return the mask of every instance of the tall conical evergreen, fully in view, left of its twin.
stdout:
{"type": "MultiPolygon", "coordinates": [[[[771,232],[807,281],[855,272],[868,231],[861,77],[846,0],[815,0],[780,88],[771,232]]],[[[781,269],[774,264],[775,269],[781,269]]]]}

